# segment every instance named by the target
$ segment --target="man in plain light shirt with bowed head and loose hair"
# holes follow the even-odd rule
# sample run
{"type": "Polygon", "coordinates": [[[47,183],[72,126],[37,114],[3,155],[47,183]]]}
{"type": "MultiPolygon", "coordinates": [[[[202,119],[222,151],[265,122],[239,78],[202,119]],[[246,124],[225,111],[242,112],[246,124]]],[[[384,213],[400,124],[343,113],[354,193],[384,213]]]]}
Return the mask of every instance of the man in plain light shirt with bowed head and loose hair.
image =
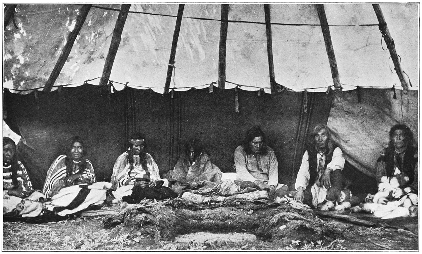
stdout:
{"type": "Polygon", "coordinates": [[[243,144],[235,149],[234,159],[238,181],[250,181],[261,190],[268,189],[270,197],[284,197],[287,193],[287,185],[279,184],[276,154],[265,145],[259,126],[246,132],[243,144]]]}

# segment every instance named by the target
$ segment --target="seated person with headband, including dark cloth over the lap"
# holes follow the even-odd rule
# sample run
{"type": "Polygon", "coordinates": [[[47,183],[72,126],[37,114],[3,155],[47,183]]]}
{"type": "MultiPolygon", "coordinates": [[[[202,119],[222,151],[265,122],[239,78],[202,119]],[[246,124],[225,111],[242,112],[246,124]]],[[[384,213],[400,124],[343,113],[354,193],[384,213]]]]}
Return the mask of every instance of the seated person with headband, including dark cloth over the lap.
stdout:
{"type": "Polygon", "coordinates": [[[128,150],[114,163],[111,176],[112,195],[119,201],[139,203],[144,198],[162,200],[177,197],[168,188],[168,180],[160,178],[157,163],[146,152],[145,136],[134,132],[128,150]]]}

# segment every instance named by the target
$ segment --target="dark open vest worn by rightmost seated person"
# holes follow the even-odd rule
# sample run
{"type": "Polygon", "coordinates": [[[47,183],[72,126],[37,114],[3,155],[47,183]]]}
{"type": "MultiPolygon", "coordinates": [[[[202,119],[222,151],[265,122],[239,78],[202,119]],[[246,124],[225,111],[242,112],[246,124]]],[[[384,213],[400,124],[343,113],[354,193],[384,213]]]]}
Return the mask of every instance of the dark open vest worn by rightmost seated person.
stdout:
{"type": "MultiPolygon", "coordinates": [[[[412,184],[415,179],[415,173],[414,168],[417,163],[417,158],[415,158],[415,153],[417,149],[414,147],[407,148],[404,151],[404,157],[403,157],[403,165],[397,165],[398,169],[405,173],[406,176],[408,176],[409,181],[407,184],[412,184]]],[[[386,163],[385,170],[387,171],[387,177],[392,177],[394,174],[394,155],[395,155],[395,149],[394,148],[386,148],[385,149],[385,155],[384,157],[381,157],[380,159],[384,160],[386,163]]]]}

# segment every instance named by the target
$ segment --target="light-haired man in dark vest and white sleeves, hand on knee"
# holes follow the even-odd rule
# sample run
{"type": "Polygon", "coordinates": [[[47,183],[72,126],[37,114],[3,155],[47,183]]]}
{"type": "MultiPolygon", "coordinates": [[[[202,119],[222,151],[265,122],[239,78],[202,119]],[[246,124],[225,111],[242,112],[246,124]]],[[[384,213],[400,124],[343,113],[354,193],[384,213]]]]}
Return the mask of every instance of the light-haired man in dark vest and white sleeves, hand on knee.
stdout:
{"type": "Polygon", "coordinates": [[[315,208],[326,200],[335,201],[346,185],[341,171],[343,152],[333,146],[330,129],[318,124],[312,133],[314,139],[302,157],[296,178],[294,199],[315,208]]]}

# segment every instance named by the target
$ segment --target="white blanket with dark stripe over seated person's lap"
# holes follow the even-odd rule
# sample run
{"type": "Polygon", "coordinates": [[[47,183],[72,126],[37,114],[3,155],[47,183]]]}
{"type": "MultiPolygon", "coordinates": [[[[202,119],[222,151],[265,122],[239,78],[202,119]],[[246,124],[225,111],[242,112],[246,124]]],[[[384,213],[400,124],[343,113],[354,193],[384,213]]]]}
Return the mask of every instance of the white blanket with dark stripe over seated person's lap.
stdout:
{"type": "Polygon", "coordinates": [[[65,187],[51,197],[45,205],[47,210],[65,216],[82,211],[89,205],[102,204],[106,200],[106,191],[110,188],[111,184],[108,182],[65,187]]]}

